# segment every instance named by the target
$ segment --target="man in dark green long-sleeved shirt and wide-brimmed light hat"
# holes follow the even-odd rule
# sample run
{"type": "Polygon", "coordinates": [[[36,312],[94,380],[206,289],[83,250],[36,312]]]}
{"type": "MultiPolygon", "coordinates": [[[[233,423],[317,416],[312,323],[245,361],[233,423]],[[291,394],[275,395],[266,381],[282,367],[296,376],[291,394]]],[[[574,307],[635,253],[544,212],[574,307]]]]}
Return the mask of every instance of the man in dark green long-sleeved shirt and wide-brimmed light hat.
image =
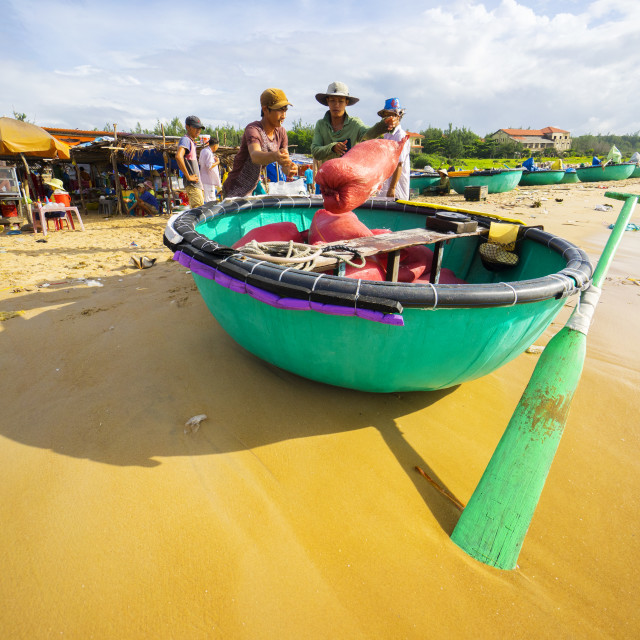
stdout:
{"type": "Polygon", "coordinates": [[[316,100],[329,107],[324,118],[316,122],[311,143],[311,155],[320,162],[343,156],[358,142],[378,138],[386,131],[393,131],[400,123],[397,116],[390,116],[367,127],[360,118],[350,116],[346,108],[360,98],[350,95],[344,82],[332,82],[326,93],[316,93],[316,100]]]}

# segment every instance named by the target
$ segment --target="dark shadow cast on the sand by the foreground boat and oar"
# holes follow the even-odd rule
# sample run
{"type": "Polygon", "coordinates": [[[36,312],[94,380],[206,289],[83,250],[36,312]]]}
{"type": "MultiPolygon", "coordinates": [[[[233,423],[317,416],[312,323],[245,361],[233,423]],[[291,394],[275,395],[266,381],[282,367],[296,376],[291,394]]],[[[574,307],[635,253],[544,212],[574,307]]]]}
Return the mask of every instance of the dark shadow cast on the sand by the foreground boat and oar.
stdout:
{"type": "MultiPolygon", "coordinates": [[[[153,467],[374,427],[442,528],[459,512],[415,470],[445,483],[407,442],[397,419],[439,402],[438,392],[371,394],[312,382],[234,343],[173,263],[113,276],[99,288],[33,290],[3,310],[0,351],[16,390],[0,435],[110,465],[153,467]],[[185,421],[207,414],[185,435],[185,421]]],[[[428,429],[429,425],[425,425],[428,429]]]]}

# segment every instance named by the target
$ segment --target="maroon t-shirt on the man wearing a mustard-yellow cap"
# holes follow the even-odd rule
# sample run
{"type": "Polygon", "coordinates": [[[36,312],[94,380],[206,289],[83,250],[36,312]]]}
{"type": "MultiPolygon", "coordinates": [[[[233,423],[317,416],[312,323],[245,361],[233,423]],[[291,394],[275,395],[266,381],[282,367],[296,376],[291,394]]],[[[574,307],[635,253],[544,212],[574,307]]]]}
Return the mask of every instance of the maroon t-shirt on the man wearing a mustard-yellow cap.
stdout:
{"type": "Polygon", "coordinates": [[[249,145],[253,142],[260,145],[261,151],[273,152],[286,149],[289,138],[284,127],[277,127],[273,139],[270,140],[260,120],[248,124],[242,134],[240,150],[233,161],[233,168],[222,185],[225,198],[250,196],[256,188],[262,166],[251,162],[249,145]]]}

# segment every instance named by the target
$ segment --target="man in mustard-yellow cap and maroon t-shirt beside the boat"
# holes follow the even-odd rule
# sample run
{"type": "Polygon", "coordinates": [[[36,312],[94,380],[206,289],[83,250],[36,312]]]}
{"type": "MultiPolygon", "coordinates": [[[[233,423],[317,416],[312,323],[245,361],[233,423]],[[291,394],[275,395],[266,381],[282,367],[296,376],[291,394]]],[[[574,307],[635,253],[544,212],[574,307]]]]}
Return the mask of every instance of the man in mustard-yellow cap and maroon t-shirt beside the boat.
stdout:
{"type": "Polygon", "coordinates": [[[291,106],[282,89],[262,92],[262,119],[251,122],[244,130],[233,168],[222,185],[225,198],[250,196],[260,179],[261,168],[272,162],[277,162],[287,177],[296,173],[297,167],[291,162],[287,149],[287,132],[282,126],[291,106]]]}

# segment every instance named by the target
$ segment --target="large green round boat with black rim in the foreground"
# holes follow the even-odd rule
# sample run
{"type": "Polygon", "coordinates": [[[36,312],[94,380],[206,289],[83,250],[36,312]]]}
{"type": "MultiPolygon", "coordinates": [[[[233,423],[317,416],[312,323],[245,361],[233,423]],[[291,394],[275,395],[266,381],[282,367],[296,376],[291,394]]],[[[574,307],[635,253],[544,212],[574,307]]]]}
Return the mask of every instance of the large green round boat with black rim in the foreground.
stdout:
{"type": "MultiPolygon", "coordinates": [[[[164,236],[236,342],[312,380],[373,392],[445,389],[473,380],[527,349],[565,298],[590,282],[584,252],[534,227],[520,227],[516,266],[487,268],[478,247],[491,218],[470,212],[463,224],[477,223],[475,233],[440,233],[443,267],[468,284],[356,280],[230,248],[265,224],[288,221],[308,229],[321,207],[319,198],[227,199],[172,216],[164,236]]],[[[434,208],[380,199],[356,213],[370,228],[390,228],[393,239],[427,233],[425,226],[440,215],[434,208]]]]}

